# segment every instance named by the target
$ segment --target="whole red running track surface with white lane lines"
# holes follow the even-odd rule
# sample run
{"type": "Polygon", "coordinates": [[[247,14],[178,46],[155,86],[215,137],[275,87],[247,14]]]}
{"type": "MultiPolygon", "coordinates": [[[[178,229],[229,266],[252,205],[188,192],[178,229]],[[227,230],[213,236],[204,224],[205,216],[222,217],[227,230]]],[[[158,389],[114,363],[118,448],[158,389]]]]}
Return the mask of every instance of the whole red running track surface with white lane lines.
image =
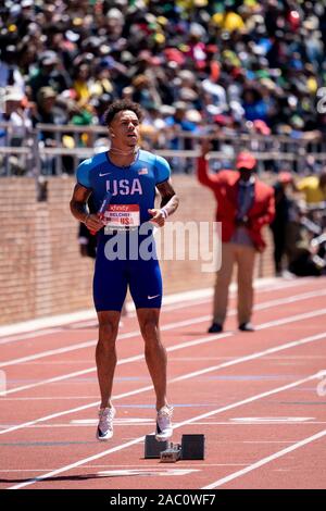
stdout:
{"type": "Polygon", "coordinates": [[[143,459],[154,399],[135,314],[124,320],[114,437],[95,439],[96,324],[0,337],[0,488],[324,488],[325,278],[277,279],[256,291],[255,333],[208,335],[211,300],[162,311],[174,438],[203,433],[203,461],[143,459]]]}

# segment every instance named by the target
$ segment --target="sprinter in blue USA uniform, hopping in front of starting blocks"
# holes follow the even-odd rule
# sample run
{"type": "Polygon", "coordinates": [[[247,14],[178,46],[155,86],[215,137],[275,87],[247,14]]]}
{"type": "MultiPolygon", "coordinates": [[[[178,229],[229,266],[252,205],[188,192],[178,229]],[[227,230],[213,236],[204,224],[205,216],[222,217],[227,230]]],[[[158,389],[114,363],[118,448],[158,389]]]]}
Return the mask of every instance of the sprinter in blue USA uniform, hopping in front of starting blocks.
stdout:
{"type": "MultiPolygon", "coordinates": [[[[93,300],[99,319],[96,360],[101,391],[97,438],[108,440],[113,436],[115,409],[111,395],[116,365],[115,339],[129,286],[156,395],[156,439],[163,441],[172,436],[173,409],[166,399],[166,351],[159,328],[162,302],[159,262],[139,254],[137,260],[134,257],[109,260],[106,250],[112,236],[124,235],[126,244],[130,244],[131,230],[135,230],[130,226],[136,226],[139,232],[141,224],[151,221],[162,227],[166,217],[176,211],[179,200],[171,185],[168,163],[138,148],[142,119],[139,104],[118,100],[109,107],[105,115],[111,148],[80,163],[71,200],[73,215],[91,232],[100,232],[93,278],[93,300]],[[162,197],[161,209],[154,209],[155,189],[162,197]],[[103,228],[102,217],[86,210],[90,194],[99,210],[108,191],[112,194],[105,212],[109,230],[103,228]]],[[[138,239],[141,241],[143,236],[139,235],[138,239]]]]}

